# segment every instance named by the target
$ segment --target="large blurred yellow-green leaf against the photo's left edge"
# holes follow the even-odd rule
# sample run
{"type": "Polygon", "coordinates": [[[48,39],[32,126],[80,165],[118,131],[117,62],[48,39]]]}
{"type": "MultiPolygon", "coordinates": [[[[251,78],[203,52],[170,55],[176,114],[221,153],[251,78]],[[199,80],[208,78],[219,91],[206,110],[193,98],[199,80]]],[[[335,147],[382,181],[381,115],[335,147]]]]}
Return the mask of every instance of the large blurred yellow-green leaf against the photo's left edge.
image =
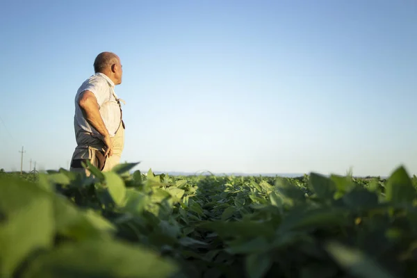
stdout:
{"type": "Polygon", "coordinates": [[[52,196],[35,183],[0,178],[0,277],[12,277],[35,250],[54,240],[52,196]]]}

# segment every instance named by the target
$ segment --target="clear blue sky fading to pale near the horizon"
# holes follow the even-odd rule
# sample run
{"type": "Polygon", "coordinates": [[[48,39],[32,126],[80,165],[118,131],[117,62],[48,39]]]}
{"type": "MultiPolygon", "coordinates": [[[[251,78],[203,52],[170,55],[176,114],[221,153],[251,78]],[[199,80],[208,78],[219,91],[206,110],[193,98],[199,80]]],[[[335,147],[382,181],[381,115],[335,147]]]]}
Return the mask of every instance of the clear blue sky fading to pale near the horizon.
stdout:
{"type": "Polygon", "coordinates": [[[417,1],[6,1],[0,38],[6,170],[67,167],[113,51],[136,169],[417,172],[417,1]]]}

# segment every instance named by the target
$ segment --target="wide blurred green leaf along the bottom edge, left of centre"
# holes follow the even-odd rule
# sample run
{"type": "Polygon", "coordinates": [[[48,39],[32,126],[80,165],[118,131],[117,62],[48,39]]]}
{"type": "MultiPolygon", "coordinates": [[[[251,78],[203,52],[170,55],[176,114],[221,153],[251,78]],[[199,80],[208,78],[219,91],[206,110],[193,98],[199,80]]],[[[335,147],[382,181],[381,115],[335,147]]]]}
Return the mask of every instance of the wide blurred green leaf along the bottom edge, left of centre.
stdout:
{"type": "Polygon", "coordinates": [[[177,265],[150,250],[125,243],[84,240],[37,256],[23,278],[171,277],[177,265]]]}

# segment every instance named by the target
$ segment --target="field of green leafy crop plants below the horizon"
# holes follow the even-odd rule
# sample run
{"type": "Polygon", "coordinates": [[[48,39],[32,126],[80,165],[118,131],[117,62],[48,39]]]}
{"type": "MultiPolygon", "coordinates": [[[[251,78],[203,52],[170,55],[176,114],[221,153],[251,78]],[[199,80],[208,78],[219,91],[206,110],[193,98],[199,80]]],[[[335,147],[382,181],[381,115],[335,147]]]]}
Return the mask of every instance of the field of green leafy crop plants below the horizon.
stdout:
{"type": "Polygon", "coordinates": [[[0,277],[417,277],[417,177],[0,173],[0,277]]]}

